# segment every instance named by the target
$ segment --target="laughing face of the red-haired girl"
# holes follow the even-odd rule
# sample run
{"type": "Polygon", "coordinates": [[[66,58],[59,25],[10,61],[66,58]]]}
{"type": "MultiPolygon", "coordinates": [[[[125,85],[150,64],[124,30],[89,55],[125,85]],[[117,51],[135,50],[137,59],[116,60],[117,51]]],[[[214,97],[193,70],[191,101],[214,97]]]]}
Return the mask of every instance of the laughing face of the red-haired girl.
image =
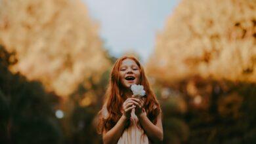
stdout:
{"type": "Polygon", "coordinates": [[[140,69],[134,60],[129,58],[123,60],[120,65],[119,75],[121,84],[123,84],[125,88],[130,88],[132,84],[139,84],[140,69]]]}

